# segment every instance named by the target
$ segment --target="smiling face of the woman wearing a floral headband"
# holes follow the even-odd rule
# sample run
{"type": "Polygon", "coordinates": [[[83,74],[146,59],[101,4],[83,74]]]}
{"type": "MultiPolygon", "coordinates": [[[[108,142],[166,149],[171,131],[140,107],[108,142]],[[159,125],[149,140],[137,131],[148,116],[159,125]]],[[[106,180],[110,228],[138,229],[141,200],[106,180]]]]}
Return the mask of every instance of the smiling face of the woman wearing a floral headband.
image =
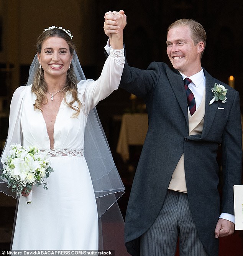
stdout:
{"type": "Polygon", "coordinates": [[[43,42],[41,53],[38,53],[38,59],[44,70],[44,78],[47,76],[67,76],[72,55],[65,39],[51,36],[43,42]]]}

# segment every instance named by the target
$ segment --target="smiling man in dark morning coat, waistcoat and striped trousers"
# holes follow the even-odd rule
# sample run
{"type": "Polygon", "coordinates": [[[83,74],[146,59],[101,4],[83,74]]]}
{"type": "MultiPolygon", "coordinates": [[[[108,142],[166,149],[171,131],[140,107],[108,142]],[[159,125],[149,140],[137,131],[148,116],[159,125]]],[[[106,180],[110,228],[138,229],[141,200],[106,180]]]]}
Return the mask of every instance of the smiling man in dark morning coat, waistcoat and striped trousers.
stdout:
{"type": "MultiPolygon", "coordinates": [[[[109,12],[104,24],[112,46],[119,18],[109,12]]],[[[153,62],[140,70],[126,61],[121,77],[121,88],[144,99],[149,120],[126,212],[126,247],[131,255],[172,256],[179,237],[180,255],[216,256],[218,237],[234,232],[233,185],[241,183],[239,94],[201,67],[200,23],[175,21],[166,43],[172,69],[153,62]],[[214,85],[226,95],[209,105],[214,85]]]]}

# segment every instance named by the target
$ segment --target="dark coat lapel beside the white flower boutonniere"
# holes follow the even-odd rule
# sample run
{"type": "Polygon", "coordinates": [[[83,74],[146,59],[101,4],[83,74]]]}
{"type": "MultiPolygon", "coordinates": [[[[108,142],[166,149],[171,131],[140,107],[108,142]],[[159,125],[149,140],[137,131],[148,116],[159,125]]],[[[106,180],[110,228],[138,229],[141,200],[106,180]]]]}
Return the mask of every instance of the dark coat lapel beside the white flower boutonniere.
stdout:
{"type": "Polygon", "coordinates": [[[218,108],[218,101],[215,101],[213,102],[212,105],[209,105],[209,102],[213,98],[213,92],[211,88],[213,88],[213,85],[215,84],[215,79],[212,76],[210,76],[210,74],[207,73],[205,69],[203,70],[206,77],[206,87],[205,87],[206,100],[205,100],[205,117],[204,117],[204,127],[202,130],[202,138],[208,134],[218,108]]]}

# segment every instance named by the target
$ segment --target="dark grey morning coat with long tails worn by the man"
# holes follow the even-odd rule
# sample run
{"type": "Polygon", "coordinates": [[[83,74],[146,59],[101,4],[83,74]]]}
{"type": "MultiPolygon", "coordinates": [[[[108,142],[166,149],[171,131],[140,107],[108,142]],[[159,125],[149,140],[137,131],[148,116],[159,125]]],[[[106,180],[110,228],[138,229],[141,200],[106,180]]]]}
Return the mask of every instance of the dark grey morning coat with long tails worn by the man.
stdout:
{"type": "Polygon", "coordinates": [[[187,97],[181,74],[161,62],[151,63],[146,71],[125,63],[120,87],[144,99],[149,122],[125,219],[125,242],[132,255],[140,255],[139,237],[161,210],[172,173],[183,153],[188,200],[199,237],[210,256],[218,255],[218,239],[214,238],[218,217],[220,213],[234,214],[233,185],[241,183],[240,102],[237,91],[205,70],[204,74],[206,101],[202,135],[189,136],[187,97]],[[219,100],[209,105],[215,83],[228,89],[227,102],[219,100]],[[216,161],[220,144],[221,204],[216,161]]]}

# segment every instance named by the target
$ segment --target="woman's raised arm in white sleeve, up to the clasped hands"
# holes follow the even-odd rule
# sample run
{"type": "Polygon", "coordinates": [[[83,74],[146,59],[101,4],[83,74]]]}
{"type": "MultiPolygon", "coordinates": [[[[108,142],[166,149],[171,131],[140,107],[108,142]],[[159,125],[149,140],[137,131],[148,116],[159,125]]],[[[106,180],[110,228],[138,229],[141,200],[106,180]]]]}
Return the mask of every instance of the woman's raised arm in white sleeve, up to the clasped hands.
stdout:
{"type": "Polygon", "coordinates": [[[123,29],[126,26],[126,15],[123,11],[122,13],[107,12],[105,14],[104,29],[107,28],[112,49],[110,49],[110,56],[105,61],[100,77],[96,81],[93,79],[82,80],[77,85],[79,99],[82,102],[82,110],[85,115],[89,114],[90,109],[94,108],[99,101],[118,89],[120,84],[125,63],[123,29]]]}

